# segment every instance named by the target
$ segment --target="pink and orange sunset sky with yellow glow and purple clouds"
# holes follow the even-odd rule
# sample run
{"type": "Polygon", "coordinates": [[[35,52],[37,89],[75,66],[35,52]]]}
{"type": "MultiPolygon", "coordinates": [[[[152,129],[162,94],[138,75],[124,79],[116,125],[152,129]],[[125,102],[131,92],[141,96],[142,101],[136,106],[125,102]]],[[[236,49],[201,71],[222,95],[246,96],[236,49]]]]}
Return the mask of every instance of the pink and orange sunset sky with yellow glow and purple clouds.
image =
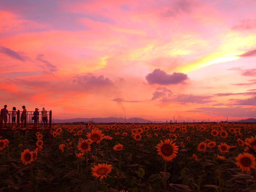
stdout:
{"type": "Polygon", "coordinates": [[[0,105],[54,119],[256,118],[256,1],[0,1],[0,105]]]}

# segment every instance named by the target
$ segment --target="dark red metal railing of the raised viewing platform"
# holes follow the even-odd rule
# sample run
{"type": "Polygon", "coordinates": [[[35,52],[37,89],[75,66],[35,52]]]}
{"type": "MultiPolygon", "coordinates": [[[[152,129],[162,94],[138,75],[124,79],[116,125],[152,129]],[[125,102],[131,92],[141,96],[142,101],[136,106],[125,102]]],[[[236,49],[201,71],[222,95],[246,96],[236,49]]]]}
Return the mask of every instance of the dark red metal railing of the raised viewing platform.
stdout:
{"type": "MultiPolygon", "coordinates": [[[[12,111],[8,111],[8,113],[10,115],[7,114],[6,126],[3,122],[3,113],[0,116],[0,136],[2,135],[2,131],[12,131],[12,128],[14,126],[14,123],[12,122],[12,111]]],[[[35,124],[35,120],[32,120],[33,113],[34,113],[34,111],[27,111],[26,119],[24,121],[23,127],[26,127],[28,130],[31,130],[31,131],[36,131],[36,130],[39,130],[39,128],[43,127],[44,123],[43,123],[42,113],[38,111],[38,113],[39,113],[38,122],[35,124]]],[[[51,122],[52,112],[50,110],[50,111],[47,111],[46,113],[47,113],[47,117],[48,117],[48,127],[44,128],[44,130],[50,131],[51,124],[52,124],[52,122],[51,122]]],[[[21,122],[20,122],[21,115],[22,115],[22,112],[19,110],[15,114],[15,117],[16,117],[15,127],[16,128],[21,126],[21,122]]]]}

